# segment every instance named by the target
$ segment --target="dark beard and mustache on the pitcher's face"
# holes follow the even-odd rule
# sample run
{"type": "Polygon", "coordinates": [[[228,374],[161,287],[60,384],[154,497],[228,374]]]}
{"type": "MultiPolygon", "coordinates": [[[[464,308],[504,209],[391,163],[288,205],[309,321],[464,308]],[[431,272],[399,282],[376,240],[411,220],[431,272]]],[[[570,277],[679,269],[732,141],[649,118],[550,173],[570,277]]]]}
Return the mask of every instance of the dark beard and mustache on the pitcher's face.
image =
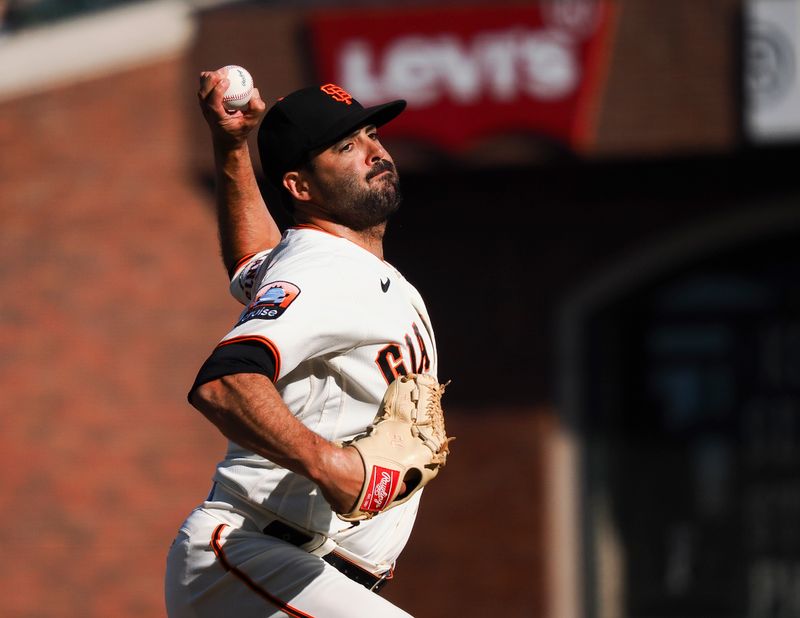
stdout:
{"type": "Polygon", "coordinates": [[[364,187],[355,176],[338,178],[321,183],[320,191],[330,212],[339,223],[357,232],[380,225],[389,220],[403,201],[400,178],[394,165],[385,159],[376,162],[367,173],[369,186],[364,187]],[[381,178],[369,183],[381,172],[381,178]]]}

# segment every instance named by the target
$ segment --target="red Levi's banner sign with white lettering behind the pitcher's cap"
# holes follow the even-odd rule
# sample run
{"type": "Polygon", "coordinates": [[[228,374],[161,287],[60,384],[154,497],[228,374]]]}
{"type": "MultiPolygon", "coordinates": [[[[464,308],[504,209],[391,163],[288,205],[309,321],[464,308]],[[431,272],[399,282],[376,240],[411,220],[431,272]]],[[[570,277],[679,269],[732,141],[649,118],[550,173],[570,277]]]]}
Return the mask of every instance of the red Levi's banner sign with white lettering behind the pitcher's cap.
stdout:
{"type": "Polygon", "coordinates": [[[591,142],[611,0],[313,14],[318,78],[365,107],[406,99],[384,136],[458,151],[527,132],[591,142]]]}

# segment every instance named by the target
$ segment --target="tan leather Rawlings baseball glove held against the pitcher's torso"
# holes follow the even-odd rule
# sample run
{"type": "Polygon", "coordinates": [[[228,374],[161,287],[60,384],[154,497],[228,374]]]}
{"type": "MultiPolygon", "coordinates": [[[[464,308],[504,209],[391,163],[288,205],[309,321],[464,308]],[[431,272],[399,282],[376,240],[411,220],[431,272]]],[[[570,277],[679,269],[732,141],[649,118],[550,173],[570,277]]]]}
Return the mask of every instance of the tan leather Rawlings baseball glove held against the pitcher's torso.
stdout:
{"type": "Polygon", "coordinates": [[[361,455],[366,478],[353,509],[338,513],[341,519],[370,519],[403,504],[436,478],[455,439],[447,437],[444,427],[447,384],[428,374],[409,374],[389,385],[372,425],[346,443],[361,455]]]}

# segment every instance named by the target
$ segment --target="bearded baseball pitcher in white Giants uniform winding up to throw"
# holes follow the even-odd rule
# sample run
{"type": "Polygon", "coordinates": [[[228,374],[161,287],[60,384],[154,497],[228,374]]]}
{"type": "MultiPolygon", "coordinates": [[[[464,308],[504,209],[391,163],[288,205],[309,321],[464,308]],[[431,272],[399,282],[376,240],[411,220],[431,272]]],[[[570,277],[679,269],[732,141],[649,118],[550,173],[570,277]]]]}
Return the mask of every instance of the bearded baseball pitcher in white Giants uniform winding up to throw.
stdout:
{"type": "Polygon", "coordinates": [[[230,113],[227,83],[204,72],[199,97],[223,260],[245,308],[189,393],[229,446],[170,549],[168,613],[408,616],[377,592],[448,439],[428,313],[383,256],[401,198],[378,127],[405,102],[364,108],[325,84],[266,114],[256,90],[230,113]],[[265,176],[296,221],[283,235],[253,173],[256,127],[265,176]]]}

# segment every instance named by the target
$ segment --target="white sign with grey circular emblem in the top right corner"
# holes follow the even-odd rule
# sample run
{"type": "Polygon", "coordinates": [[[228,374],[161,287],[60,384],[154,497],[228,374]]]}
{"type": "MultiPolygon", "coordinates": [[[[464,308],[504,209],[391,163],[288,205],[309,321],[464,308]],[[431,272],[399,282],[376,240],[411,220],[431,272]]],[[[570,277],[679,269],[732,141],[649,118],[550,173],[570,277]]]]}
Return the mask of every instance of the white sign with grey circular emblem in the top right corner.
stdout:
{"type": "Polygon", "coordinates": [[[800,0],[747,0],[743,83],[747,137],[800,140],[800,0]]]}

